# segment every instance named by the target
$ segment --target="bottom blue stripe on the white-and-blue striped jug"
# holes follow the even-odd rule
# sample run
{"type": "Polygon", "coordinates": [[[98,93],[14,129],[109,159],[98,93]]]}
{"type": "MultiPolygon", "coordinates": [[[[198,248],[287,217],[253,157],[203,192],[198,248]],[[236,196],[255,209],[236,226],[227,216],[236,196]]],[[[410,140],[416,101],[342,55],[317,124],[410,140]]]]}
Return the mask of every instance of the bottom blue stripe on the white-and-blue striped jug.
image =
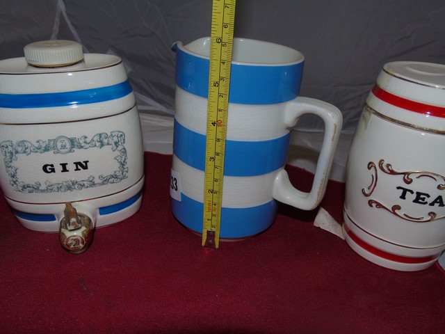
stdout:
{"type": "MultiPolygon", "coordinates": [[[[181,202],[172,199],[172,212],[183,225],[202,233],[202,202],[197,202],[181,193],[181,202]]],[[[245,208],[221,209],[220,237],[246,238],[263,232],[272,225],[277,212],[277,202],[271,200],[264,205],[245,208]]]]}

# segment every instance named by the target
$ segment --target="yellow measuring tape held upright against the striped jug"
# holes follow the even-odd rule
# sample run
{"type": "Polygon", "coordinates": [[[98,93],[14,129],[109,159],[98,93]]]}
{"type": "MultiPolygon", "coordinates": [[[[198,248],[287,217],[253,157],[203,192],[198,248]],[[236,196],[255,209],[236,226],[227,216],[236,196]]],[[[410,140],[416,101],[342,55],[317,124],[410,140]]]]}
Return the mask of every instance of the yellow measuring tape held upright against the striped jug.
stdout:
{"type": "Polygon", "coordinates": [[[235,2],[213,0],[211,17],[202,246],[212,248],[218,248],[220,239],[235,2]]]}

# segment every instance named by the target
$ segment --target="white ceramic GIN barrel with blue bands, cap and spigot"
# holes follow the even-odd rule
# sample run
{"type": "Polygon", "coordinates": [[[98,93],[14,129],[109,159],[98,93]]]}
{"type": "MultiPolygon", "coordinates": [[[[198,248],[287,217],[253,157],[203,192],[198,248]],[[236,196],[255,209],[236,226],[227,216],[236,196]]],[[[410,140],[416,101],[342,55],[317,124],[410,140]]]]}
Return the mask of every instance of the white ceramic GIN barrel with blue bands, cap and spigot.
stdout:
{"type": "Polygon", "coordinates": [[[80,253],[140,207],[143,146],[122,61],[36,42],[0,61],[0,184],[15,216],[80,253]]]}

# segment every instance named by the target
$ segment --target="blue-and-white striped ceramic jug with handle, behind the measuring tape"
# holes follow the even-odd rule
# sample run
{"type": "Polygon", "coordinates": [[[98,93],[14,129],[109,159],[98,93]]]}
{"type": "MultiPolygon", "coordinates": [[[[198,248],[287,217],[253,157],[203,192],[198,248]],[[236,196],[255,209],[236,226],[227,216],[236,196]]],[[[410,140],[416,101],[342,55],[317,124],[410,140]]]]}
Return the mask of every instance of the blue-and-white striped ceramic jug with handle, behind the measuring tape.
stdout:
{"type": "MultiPolygon", "coordinates": [[[[209,43],[209,38],[185,46],[177,43],[172,163],[172,180],[176,183],[172,184],[172,207],[178,220],[195,232],[202,229],[201,162],[207,131],[205,72],[209,43]]],[[[325,193],[342,123],[336,107],[298,97],[304,60],[300,52],[239,38],[234,41],[233,53],[221,215],[223,239],[243,239],[268,228],[275,216],[275,200],[314,209],[325,193]],[[325,136],[314,184],[306,193],[289,182],[284,164],[291,128],[307,113],[325,122],[325,136]]]]}

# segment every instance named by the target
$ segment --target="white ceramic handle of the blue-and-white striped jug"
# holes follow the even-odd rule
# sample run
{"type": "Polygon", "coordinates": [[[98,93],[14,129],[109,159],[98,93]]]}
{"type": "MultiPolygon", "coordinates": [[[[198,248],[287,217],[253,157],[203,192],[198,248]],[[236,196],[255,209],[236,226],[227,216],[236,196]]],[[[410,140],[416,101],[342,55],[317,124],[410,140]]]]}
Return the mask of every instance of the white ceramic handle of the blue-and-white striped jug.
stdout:
{"type": "Polygon", "coordinates": [[[325,195],[327,180],[334,159],[334,152],[341,133],[343,118],[336,106],[309,97],[296,97],[288,102],[284,122],[286,127],[294,127],[298,118],[314,114],[325,123],[323,145],[318,156],[314,182],[309,193],[296,189],[289,180],[284,168],[277,173],[273,186],[273,198],[303,210],[315,209],[325,195]]]}

